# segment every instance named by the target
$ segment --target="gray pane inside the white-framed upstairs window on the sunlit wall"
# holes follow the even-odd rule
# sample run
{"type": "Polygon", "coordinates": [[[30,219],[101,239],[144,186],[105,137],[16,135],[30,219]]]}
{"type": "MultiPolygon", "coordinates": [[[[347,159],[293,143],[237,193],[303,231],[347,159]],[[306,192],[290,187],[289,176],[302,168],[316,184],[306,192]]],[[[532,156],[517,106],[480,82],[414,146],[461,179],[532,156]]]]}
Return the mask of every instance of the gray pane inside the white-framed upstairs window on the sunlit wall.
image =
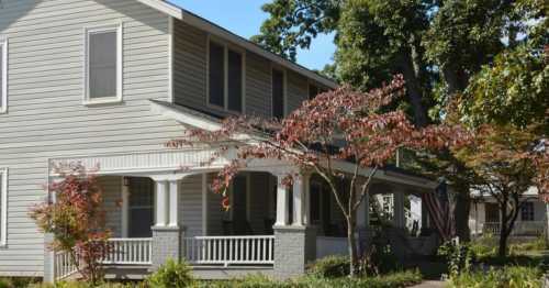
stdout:
{"type": "Polygon", "coordinates": [[[90,99],[116,97],[116,32],[89,35],[90,99]]]}

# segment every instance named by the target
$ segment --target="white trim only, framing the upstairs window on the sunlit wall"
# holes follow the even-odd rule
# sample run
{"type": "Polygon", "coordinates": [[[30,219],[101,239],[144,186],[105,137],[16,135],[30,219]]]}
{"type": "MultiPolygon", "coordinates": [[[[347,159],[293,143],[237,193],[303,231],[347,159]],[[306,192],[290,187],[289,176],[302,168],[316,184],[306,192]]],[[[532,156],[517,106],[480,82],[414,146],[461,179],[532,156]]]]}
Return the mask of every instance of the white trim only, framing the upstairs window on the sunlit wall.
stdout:
{"type": "Polygon", "coordinates": [[[108,104],[108,103],[120,103],[122,102],[122,95],[123,95],[123,69],[124,69],[124,60],[123,60],[123,30],[122,30],[123,23],[115,23],[115,24],[110,24],[110,25],[101,25],[101,26],[94,26],[94,27],[86,27],[83,37],[85,37],[85,57],[83,57],[83,81],[85,81],[85,87],[83,87],[83,104],[85,106],[90,106],[90,104],[108,104]],[[90,51],[90,41],[89,36],[92,33],[100,33],[100,32],[116,32],[116,96],[115,97],[105,97],[104,99],[90,99],[90,85],[89,85],[89,75],[90,75],[90,67],[89,67],[89,51],[90,51]]]}

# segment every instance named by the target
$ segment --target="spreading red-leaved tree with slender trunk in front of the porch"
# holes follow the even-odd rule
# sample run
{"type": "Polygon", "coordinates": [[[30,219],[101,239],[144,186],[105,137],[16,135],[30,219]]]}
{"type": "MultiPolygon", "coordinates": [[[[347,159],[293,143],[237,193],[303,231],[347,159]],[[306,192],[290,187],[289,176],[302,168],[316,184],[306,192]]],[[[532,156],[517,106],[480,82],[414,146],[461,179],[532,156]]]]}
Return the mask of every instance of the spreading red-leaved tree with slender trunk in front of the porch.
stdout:
{"type": "MultiPolygon", "coordinates": [[[[388,106],[403,96],[403,85],[402,76],[396,76],[390,85],[367,93],[341,87],[304,101],[280,121],[257,117],[228,118],[217,131],[186,130],[183,137],[167,145],[179,148],[197,143],[219,145],[214,157],[203,165],[236,151],[236,158],[224,166],[212,185],[215,191],[224,195],[226,208],[229,203],[225,192],[231,180],[253,159],[287,162],[300,173],[322,177],[345,217],[350,273],[355,275],[358,266],[356,214],[368,196],[377,170],[383,168],[402,147],[437,149],[463,139],[458,129],[441,125],[417,129],[403,111],[389,111],[388,106]],[[344,163],[351,169],[344,171],[344,163]],[[350,185],[341,188],[337,185],[340,180],[350,185]]],[[[289,173],[284,184],[291,185],[295,176],[289,173]]]]}

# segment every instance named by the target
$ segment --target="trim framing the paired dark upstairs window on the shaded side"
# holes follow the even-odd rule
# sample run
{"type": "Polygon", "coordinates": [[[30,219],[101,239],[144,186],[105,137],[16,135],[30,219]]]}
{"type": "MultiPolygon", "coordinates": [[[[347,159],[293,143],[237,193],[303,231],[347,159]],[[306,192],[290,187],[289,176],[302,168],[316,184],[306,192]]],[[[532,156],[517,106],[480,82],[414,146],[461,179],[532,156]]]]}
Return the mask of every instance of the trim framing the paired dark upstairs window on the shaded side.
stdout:
{"type": "Polygon", "coordinates": [[[224,112],[235,113],[235,114],[245,114],[246,113],[246,51],[236,47],[234,45],[228,44],[225,41],[219,40],[210,34],[206,36],[206,107],[222,110],[224,112]],[[210,103],[210,43],[214,42],[215,44],[223,46],[224,55],[223,55],[223,102],[224,107],[210,103]],[[242,111],[234,111],[228,109],[228,49],[232,49],[236,53],[239,53],[242,56],[242,111]]]}

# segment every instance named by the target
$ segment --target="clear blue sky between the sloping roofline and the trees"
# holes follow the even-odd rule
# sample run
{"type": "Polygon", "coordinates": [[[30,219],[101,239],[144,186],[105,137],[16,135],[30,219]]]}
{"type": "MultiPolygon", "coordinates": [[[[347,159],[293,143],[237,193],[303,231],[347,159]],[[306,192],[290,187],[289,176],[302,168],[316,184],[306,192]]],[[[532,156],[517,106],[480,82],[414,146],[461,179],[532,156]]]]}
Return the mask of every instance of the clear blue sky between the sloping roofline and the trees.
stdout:
{"type": "MultiPolygon", "coordinates": [[[[186,10],[205,18],[243,37],[259,33],[268,14],[261,11],[266,0],[169,0],[186,10]]],[[[300,51],[298,63],[310,69],[322,69],[332,63],[335,51],[333,36],[320,35],[311,51],[300,51]]]]}

